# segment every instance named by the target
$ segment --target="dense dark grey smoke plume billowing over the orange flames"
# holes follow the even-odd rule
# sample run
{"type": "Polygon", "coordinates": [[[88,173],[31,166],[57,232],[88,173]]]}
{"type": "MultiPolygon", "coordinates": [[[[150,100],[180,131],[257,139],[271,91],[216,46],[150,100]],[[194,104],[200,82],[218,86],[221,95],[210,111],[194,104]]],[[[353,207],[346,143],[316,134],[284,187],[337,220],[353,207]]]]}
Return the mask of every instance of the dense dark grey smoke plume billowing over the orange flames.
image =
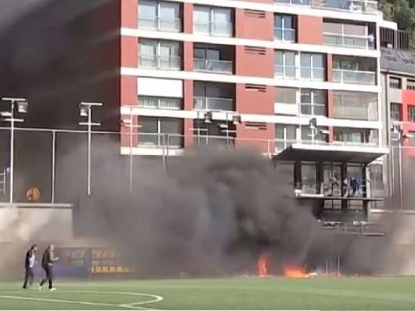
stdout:
{"type": "Polygon", "coordinates": [[[263,252],[302,263],[316,237],[311,212],[287,191],[291,176],[259,153],[190,151],[168,172],[145,164],[140,175],[133,195],[107,185],[93,221],[83,219],[152,275],[252,270],[263,252]]]}

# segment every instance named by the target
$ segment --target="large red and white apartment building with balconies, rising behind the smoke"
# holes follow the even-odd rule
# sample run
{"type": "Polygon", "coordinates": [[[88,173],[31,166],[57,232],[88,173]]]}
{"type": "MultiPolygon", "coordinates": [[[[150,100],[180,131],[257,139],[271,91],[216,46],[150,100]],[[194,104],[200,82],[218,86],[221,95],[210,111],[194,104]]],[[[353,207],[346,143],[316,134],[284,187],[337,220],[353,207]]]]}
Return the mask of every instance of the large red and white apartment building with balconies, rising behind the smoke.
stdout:
{"type": "Polygon", "coordinates": [[[122,154],[255,146],[294,163],[297,194],[317,214],[329,206],[367,215],[381,200],[380,33],[396,24],[376,1],[121,5],[121,116],[137,125],[122,154]],[[371,171],[380,181],[369,185],[371,171]],[[348,178],[362,183],[360,199],[344,190],[348,178]]]}

